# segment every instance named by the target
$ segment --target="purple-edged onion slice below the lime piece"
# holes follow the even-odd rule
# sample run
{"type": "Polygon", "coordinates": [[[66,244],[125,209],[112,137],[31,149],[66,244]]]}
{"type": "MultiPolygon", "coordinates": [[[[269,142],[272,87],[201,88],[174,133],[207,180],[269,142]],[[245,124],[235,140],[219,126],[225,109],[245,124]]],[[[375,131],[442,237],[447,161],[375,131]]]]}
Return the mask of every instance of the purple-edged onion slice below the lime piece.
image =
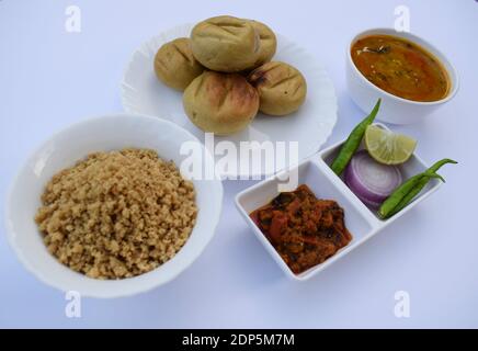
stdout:
{"type": "Polygon", "coordinates": [[[400,170],[378,163],[366,150],[358,151],[345,169],[345,183],[366,205],[377,208],[401,184],[400,170]]]}

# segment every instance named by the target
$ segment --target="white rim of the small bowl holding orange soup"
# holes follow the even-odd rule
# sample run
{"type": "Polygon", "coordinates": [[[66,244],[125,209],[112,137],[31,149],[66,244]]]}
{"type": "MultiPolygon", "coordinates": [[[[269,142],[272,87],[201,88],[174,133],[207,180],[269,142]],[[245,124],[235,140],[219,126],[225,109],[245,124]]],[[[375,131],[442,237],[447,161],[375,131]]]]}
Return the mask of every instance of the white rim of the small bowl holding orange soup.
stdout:
{"type": "Polygon", "coordinates": [[[435,45],[431,44],[429,41],[422,38],[421,36],[418,36],[418,35],[412,34],[410,32],[398,32],[394,29],[386,29],[386,27],[375,27],[375,29],[368,29],[368,30],[362,31],[358,34],[355,34],[352,37],[352,39],[350,41],[349,46],[348,46],[346,56],[349,59],[349,64],[353,67],[355,73],[357,73],[361,77],[362,81],[365,81],[368,87],[373,87],[375,90],[379,91],[380,93],[383,93],[383,94],[387,95],[388,98],[391,98],[396,101],[401,101],[401,102],[410,103],[410,104],[414,104],[414,105],[437,105],[437,104],[442,104],[442,103],[445,103],[445,102],[452,100],[455,97],[456,92],[458,91],[459,79],[458,79],[458,72],[455,69],[455,66],[452,65],[452,63],[447,59],[447,57],[439,48],[436,48],[435,45]],[[383,35],[397,36],[400,38],[405,38],[409,42],[412,42],[413,44],[416,44],[418,46],[422,46],[428,53],[432,54],[433,56],[435,56],[440,60],[440,64],[442,65],[443,69],[445,69],[446,75],[448,76],[452,89],[448,91],[448,93],[443,99],[440,99],[440,100],[414,101],[414,100],[409,100],[409,99],[394,95],[392,93],[389,93],[388,91],[385,91],[384,89],[375,86],[373,82],[371,82],[368,79],[366,79],[365,76],[355,66],[355,64],[352,59],[352,53],[351,53],[352,45],[360,37],[371,35],[371,34],[383,34],[383,35]]]}

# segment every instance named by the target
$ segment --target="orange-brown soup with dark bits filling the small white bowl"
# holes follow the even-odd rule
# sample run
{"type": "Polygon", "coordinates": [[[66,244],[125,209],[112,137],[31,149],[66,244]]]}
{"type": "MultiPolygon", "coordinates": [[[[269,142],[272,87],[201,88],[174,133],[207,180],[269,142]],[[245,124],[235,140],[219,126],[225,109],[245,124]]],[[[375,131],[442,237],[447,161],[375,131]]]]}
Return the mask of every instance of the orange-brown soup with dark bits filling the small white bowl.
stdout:
{"type": "Polygon", "coordinates": [[[390,35],[369,35],[352,45],[351,55],[366,79],[396,97],[426,102],[448,94],[445,68],[414,43],[390,35]]]}

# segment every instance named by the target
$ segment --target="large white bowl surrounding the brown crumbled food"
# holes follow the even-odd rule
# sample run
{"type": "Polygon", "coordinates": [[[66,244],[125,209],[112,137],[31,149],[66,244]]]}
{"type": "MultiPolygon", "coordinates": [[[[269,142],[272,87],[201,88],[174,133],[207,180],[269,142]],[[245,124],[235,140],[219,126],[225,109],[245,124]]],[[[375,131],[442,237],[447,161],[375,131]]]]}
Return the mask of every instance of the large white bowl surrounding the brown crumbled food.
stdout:
{"type": "MultiPolygon", "coordinates": [[[[184,271],[212,239],[219,219],[223,185],[219,180],[195,180],[197,222],[184,247],[159,268],[129,279],[102,281],[88,278],[59,263],[46,249],[34,222],[45,184],[59,170],[93,151],[125,147],[150,148],[179,167],[185,141],[197,143],[210,167],[212,156],[189,132],[158,117],[133,114],[101,116],[77,123],[50,137],[21,168],[7,202],[8,238],[20,261],[44,283],[82,296],[120,297],[164,284],[184,271]]],[[[198,152],[193,157],[201,157],[198,152]],[[197,155],[196,155],[197,154],[197,155]]]]}

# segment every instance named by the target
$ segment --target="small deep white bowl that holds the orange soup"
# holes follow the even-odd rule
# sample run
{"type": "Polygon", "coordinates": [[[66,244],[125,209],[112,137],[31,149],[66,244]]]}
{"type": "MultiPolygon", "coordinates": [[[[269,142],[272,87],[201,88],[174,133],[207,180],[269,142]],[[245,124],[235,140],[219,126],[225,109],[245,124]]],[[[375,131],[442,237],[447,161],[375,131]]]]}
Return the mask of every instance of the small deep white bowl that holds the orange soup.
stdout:
{"type": "Polygon", "coordinates": [[[392,124],[411,124],[422,121],[435,109],[453,99],[458,90],[458,76],[455,68],[446,57],[432,44],[421,37],[407,32],[397,32],[391,29],[374,29],[362,32],[350,42],[346,53],[346,82],[352,100],[365,112],[369,113],[378,98],[382,98],[380,112],[377,120],[392,124]],[[435,56],[446,69],[451,82],[448,94],[442,100],[431,102],[418,102],[402,99],[386,92],[368,81],[356,68],[352,60],[351,47],[360,38],[373,34],[385,34],[401,37],[426,49],[435,56]]]}

